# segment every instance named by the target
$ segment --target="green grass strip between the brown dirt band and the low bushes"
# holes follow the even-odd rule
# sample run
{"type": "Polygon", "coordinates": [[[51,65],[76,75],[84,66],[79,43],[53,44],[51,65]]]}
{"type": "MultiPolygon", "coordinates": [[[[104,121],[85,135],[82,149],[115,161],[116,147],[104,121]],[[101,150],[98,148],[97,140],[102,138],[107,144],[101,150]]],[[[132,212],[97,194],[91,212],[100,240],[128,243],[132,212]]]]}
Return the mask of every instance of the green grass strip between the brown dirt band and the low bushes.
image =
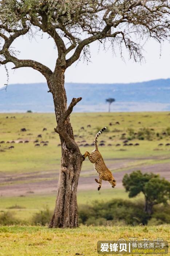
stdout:
{"type": "MultiPolygon", "coordinates": [[[[128,193],[124,189],[102,189],[98,191],[79,191],[78,192],[78,206],[81,204],[92,204],[94,200],[108,201],[115,198],[129,199],[128,193]]],[[[0,197],[0,212],[11,211],[15,213],[15,217],[20,220],[29,221],[32,215],[39,210],[42,210],[48,206],[50,210],[54,210],[56,195],[28,195],[24,197],[0,197]],[[21,209],[9,209],[12,206],[24,207],[21,209]]],[[[140,194],[132,201],[143,199],[143,195],[140,194]]]]}

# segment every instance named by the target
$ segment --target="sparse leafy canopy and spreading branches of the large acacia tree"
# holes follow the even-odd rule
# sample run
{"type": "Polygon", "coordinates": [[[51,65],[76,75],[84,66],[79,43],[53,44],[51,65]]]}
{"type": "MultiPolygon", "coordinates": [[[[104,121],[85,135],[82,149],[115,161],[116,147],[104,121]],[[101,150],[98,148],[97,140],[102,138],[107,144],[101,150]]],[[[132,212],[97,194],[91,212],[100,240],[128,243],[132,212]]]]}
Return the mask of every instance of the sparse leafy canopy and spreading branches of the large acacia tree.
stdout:
{"type": "Polygon", "coordinates": [[[110,41],[113,51],[118,47],[121,55],[125,46],[130,58],[141,60],[148,38],[169,39],[169,14],[167,0],[0,0],[0,64],[32,67],[48,79],[50,69],[31,60],[20,61],[11,47],[17,37],[39,32],[54,39],[56,67],[66,69],[82,52],[88,59],[88,46],[94,41],[104,47],[110,41]]]}

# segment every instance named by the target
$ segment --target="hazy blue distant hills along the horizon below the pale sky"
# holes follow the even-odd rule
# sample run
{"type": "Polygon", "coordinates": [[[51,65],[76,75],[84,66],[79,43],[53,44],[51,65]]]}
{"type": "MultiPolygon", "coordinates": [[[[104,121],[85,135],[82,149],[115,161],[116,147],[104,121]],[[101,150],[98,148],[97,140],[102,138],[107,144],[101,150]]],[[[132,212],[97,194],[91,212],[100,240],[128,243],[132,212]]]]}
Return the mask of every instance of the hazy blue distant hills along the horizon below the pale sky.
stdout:
{"type": "MultiPolygon", "coordinates": [[[[51,93],[46,83],[11,84],[0,91],[0,112],[53,112],[51,93]]],[[[68,103],[82,97],[76,112],[107,112],[106,98],[115,98],[111,111],[170,110],[170,79],[128,84],[66,83],[68,103]]]]}

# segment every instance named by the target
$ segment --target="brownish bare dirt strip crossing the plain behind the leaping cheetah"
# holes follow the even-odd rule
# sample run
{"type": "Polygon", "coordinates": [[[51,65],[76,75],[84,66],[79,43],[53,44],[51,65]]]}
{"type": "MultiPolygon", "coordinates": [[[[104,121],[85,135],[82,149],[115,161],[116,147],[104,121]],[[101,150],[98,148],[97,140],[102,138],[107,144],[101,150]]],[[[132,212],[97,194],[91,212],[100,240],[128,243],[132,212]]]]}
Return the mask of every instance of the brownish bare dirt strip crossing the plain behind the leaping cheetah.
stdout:
{"type": "MultiPolygon", "coordinates": [[[[127,164],[141,159],[110,159],[108,167],[111,169],[120,169],[127,167],[127,164]]],[[[106,162],[107,163],[107,162],[106,162]]],[[[114,177],[116,179],[116,188],[122,188],[122,178],[124,174],[131,173],[134,170],[140,169],[142,172],[153,172],[160,174],[161,177],[170,181],[170,163],[159,163],[154,165],[145,166],[128,166],[128,170],[116,172],[114,170],[114,177]]],[[[93,170],[93,166],[90,170],[84,170],[83,175],[91,175],[90,177],[80,177],[78,184],[78,191],[97,189],[98,184],[94,181],[97,177],[97,173],[93,170]],[[92,174],[92,175],[91,175],[92,174]]],[[[1,196],[25,196],[29,195],[30,191],[34,194],[50,194],[55,193],[58,183],[58,174],[55,172],[35,172],[25,174],[3,174],[0,178],[0,195],[1,196]],[[36,179],[48,178],[48,180],[42,180],[36,182],[36,179]],[[49,180],[50,179],[50,180],[49,180]],[[31,180],[34,180],[32,182],[31,180]],[[15,184],[15,182],[20,182],[15,184]],[[22,183],[23,182],[23,183],[22,183]],[[14,183],[14,184],[13,184],[14,183]]],[[[107,181],[102,181],[102,188],[110,188],[110,184],[107,181]]],[[[115,188],[115,189],[116,189],[115,188]]]]}

